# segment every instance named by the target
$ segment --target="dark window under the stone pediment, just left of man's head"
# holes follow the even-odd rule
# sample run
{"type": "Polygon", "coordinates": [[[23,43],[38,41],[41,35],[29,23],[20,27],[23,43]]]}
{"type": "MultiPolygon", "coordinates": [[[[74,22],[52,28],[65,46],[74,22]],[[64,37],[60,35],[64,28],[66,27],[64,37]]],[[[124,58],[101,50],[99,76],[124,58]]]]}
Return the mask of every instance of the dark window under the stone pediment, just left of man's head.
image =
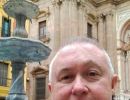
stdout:
{"type": "Polygon", "coordinates": [[[46,78],[36,78],[36,100],[45,100],[46,78]]]}

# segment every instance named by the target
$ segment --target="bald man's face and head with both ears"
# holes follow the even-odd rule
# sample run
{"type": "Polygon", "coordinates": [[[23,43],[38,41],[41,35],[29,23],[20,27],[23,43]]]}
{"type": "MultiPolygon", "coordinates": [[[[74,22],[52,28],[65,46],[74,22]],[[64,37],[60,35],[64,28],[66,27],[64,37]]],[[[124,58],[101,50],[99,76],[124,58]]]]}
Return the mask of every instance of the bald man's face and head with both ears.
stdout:
{"type": "Polygon", "coordinates": [[[68,46],[53,63],[51,100],[112,100],[116,79],[100,49],[91,44],[68,46]]]}

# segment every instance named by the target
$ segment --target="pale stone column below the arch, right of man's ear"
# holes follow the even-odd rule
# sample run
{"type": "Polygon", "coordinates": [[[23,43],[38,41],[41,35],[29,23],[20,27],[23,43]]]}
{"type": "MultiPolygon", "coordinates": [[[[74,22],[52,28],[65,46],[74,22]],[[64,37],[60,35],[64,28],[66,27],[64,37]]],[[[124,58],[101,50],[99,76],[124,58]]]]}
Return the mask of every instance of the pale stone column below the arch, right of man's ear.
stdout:
{"type": "Polygon", "coordinates": [[[117,55],[118,60],[118,75],[120,78],[120,92],[123,93],[124,91],[128,90],[129,82],[128,82],[128,75],[129,75],[129,64],[128,64],[128,57],[127,51],[119,50],[117,55]]]}

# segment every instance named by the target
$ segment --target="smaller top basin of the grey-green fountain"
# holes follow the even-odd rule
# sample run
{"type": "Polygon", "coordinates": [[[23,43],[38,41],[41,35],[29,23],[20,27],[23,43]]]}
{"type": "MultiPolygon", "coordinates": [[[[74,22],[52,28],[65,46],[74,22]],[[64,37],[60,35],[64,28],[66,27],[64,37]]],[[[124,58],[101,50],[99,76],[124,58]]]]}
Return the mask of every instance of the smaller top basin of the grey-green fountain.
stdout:
{"type": "Polygon", "coordinates": [[[31,19],[39,14],[37,5],[24,0],[9,0],[3,8],[9,16],[14,18],[16,18],[16,14],[21,14],[31,19]]]}

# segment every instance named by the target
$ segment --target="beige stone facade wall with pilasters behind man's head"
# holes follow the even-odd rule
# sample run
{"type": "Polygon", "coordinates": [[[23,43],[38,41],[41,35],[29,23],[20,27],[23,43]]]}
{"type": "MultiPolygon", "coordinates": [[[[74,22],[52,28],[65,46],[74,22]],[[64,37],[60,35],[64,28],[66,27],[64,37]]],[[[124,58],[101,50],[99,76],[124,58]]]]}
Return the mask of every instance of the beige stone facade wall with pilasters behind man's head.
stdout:
{"type": "MultiPolygon", "coordinates": [[[[120,47],[121,29],[124,23],[130,19],[130,2],[118,6],[108,3],[100,7],[94,7],[87,0],[39,0],[36,4],[40,7],[40,15],[32,20],[29,37],[39,39],[38,23],[46,20],[50,42],[45,44],[52,49],[49,59],[41,62],[43,66],[49,65],[57,50],[69,39],[77,36],[87,37],[87,23],[89,22],[93,26],[92,36],[108,52],[115,72],[120,76],[120,88],[123,90],[123,78],[126,78],[122,76],[124,74],[121,74],[124,71],[122,68],[124,56],[121,56],[122,51],[117,51],[117,48],[120,47]]],[[[39,66],[39,64],[31,66],[36,67],[37,65],[39,66]]],[[[33,67],[30,68],[30,71],[33,70],[33,67]]],[[[33,78],[30,78],[31,82],[34,83],[33,78]]],[[[30,91],[34,91],[32,83],[30,91]]],[[[30,94],[32,97],[33,93],[30,94]]]]}

